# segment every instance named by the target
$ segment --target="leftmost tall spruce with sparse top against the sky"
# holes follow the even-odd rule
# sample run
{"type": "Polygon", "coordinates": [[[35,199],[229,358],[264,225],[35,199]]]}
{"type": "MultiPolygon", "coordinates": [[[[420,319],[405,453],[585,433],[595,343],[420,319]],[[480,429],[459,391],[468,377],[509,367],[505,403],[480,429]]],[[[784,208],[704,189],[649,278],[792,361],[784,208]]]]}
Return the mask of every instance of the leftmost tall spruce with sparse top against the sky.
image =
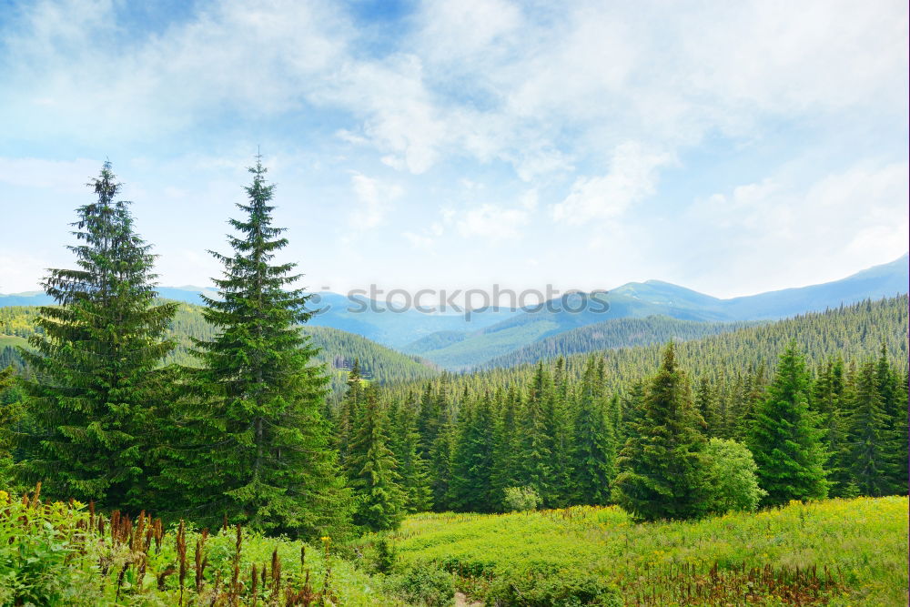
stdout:
{"type": "Polygon", "coordinates": [[[21,350],[34,372],[25,389],[37,426],[22,468],[49,497],[137,509],[177,305],[155,305],[155,256],[134,231],[130,203],[115,200],[121,185],[109,162],[89,187],[97,200],[77,209],[81,244],[69,247],[78,268],[50,270],[43,286],[58,306],[40,309],[34,351],[21,350]]]}

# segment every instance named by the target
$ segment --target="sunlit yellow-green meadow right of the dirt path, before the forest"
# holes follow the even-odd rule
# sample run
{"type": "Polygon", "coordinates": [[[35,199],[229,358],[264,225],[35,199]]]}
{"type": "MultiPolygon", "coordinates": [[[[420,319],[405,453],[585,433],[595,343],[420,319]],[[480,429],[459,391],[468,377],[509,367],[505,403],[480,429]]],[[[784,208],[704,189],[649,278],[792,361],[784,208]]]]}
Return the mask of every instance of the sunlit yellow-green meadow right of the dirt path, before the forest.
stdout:
{"type": "Polygon", "coordinates": [[[616,507],[419,514],[391,537],[401,561],[435,561],[478,597],[516,572],[586,571],[615,583],[630,605],[905,605],[907,505],[905,497],[793,502],[644,524],[616,507]]]}

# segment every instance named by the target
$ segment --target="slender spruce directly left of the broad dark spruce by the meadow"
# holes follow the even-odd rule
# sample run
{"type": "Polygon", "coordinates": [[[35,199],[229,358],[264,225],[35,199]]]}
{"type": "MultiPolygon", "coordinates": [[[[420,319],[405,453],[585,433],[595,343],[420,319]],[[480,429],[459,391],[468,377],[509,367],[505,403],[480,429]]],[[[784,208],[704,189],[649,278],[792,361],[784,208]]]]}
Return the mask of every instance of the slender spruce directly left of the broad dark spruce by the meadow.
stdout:
{"type": "Polygon", "coordinates": [[[603,385],[594,359],[589,359],[581,380],[581,402],[575,416],[571,454],[574,503],[609,503],[616,441],[603,407],[603,385]]]}

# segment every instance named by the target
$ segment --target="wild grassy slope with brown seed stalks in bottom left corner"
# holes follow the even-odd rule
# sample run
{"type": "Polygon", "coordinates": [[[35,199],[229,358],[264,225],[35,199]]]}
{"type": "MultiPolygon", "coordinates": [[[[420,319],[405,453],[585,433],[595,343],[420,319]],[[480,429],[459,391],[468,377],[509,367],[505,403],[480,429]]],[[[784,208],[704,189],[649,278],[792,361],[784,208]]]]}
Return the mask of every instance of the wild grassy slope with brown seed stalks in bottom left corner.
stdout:
{"type": "Polygon", "coordinates": [[[0,605],[400,605],[321,545],[0,491],[0,605]]]}

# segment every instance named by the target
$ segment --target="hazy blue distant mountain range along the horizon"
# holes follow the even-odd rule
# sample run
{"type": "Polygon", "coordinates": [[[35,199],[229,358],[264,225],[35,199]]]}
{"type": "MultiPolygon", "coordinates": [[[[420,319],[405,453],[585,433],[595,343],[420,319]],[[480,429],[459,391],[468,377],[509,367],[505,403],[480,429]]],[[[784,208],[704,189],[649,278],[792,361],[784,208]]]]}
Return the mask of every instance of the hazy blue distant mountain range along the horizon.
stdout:
{"type": "MultiPolygon", "coordinates": [[[[309,325],[354,333],[445,369],[527,362],[560,353],[693,339],[864,299],[906,293],[907,255],[847,278],[802,288],[720,299],[661,280],[631,282],[595,296],[570,295],[541,309],[481,309],[461,314],[390,311],[384,302],[319,293],[309,325]],[[587,306],[581,306],[582,298],[587,306]],[[604,305],[607,304],[607,305],[604,305]],[[581,308],[580,311],[577,311],[581,308]],[[663,317],[649,318],[649,317],[663,317]],[[648,319],[632,322],[624,319],[648,319]]],[[[200,304],[202,288],[159,288],[163,298],[200,304]]],[[[51,303],[44,293],[0,295],[0,307],[51,303]]]]}

